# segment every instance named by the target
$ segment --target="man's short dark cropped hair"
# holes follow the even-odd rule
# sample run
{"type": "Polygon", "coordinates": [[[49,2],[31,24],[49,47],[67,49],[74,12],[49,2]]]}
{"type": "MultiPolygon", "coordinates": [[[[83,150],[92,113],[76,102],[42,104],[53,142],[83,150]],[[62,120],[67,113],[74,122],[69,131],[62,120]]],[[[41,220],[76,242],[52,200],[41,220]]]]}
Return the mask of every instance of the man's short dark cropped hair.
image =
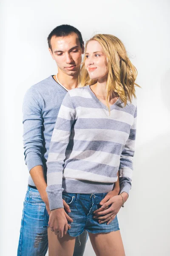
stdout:
{"type": "Polygon", "coordinates": [[[84,42],[82,40],[82,34],[79,32],[79,30],[77,28],[75,28],[74,26],[63,24],[63,25],[57,26],[48,35],[48,38],[47,38],[48,47],[51,49],[51,52],[52,52],[51,38],[53,36],[55,36],[55,37],[65,37],[65,36],[71,35],[71,33],[76,33],[78,35],[80,46],[83,48],[84,47],[84,42]]]}

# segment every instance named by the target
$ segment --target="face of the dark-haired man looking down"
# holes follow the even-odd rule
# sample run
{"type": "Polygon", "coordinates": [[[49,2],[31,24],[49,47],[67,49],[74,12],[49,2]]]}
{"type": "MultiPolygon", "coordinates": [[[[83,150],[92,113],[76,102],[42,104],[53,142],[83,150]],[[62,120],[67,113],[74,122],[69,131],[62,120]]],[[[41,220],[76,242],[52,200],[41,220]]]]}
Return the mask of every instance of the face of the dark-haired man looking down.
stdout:
{"type": "Polygon", "coordinates": [[[58,70],[68,76],[76,75],[79,71],[83,53],[78,35],[73,32],[65,37],[53,36],[51,47],[52,51],[51,49],[49,51],[57,63],[58,70]]]}

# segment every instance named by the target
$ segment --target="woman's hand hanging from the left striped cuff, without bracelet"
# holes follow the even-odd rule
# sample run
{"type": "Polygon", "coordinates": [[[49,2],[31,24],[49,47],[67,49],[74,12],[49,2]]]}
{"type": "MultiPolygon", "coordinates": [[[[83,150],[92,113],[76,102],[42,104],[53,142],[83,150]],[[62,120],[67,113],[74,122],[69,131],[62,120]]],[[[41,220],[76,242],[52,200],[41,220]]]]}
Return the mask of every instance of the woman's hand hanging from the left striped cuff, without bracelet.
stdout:
{"type": "Polygon", "coordinates": [[[68,225],[63,208],[58,208],[51,211],[48,225],[51,228],[51,231],[54,231],[55,235],[59,235],[59,238],[66,235],[70,225],[68,225]]]}

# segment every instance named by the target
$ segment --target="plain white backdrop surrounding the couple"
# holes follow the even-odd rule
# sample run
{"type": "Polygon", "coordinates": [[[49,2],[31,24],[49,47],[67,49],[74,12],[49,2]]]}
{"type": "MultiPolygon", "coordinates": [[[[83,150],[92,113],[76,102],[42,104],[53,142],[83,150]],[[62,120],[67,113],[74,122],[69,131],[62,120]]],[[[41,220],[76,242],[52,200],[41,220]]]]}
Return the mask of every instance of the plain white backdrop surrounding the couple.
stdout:
{"type": "MultiPolygon", "coordinates": [[[[47,36],[68,23],[84,40],[95,33],[116,35],[138,70],[133,189],[119,212],[119,226],[126,256],[169,256],[170,2],[1,0],[0,12],[0,255],[17,255],[27,188],[23,96],[56,73],[47,36]]],[[[90,241],[84,255],[95,255],[90,241]]]]}

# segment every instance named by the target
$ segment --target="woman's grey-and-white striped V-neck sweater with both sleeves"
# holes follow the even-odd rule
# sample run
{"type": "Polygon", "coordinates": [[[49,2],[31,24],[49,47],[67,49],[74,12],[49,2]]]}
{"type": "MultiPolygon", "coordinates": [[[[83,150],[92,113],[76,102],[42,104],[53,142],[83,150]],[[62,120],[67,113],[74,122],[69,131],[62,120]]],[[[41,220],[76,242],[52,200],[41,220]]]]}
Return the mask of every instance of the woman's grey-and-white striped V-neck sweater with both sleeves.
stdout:
{"type": "Polygon", "coordinates": [[[90,86],[68,91],[54,127],[47,161],[50,209],[62,208],[62,191],[104,193],[119,170],[120,193],[131,189],[136,99],[108,108],[90,86]]]}

